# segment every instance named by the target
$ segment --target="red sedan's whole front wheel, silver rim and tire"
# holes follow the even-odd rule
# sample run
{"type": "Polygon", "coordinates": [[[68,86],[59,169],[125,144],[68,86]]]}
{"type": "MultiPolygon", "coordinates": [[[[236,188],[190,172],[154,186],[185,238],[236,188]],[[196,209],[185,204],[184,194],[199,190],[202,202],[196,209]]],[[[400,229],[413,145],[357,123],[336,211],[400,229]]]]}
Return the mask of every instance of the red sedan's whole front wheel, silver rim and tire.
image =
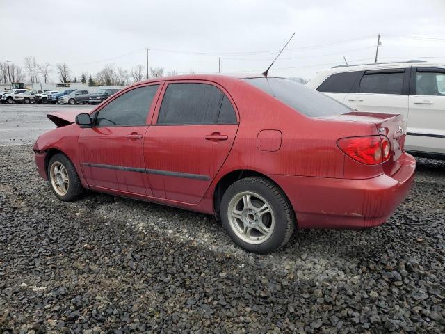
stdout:
{"type": "Polygon", "coordinates": [[[48,180],[51,190],[59,200],[71,202],[83,192],[76,168],[65,154],[55,154],[48,164],[48,180]]]}

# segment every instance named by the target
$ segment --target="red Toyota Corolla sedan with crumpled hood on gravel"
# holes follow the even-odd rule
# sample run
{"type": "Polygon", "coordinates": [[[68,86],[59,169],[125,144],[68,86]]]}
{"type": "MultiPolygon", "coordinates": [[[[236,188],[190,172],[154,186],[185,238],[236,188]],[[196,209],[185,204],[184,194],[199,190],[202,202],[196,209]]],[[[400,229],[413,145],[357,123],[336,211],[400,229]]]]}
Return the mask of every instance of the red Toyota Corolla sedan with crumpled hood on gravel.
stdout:
{"type": "Polygon", "coordinates": [[[297,227],[380,225],[414,178],[402,116],[360,113],[289,79],[157,78],[78,113],[50,113],[58,127],[33,148],[60,200],[92,189],[216,214],[256,253],[297,227]]]}

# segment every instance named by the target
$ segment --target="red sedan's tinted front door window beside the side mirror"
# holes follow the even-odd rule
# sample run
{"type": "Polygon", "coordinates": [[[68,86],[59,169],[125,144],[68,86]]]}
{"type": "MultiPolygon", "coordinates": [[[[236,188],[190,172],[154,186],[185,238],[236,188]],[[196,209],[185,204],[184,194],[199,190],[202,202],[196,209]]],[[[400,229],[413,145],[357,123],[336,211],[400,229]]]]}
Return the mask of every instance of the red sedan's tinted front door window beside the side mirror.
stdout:
{"type": "Polygon", "coordinates": [[[99,110],[95,125],[99,127],[145,125],[158,88],[159,85],[144,86],[120,95],[99,110]]]}

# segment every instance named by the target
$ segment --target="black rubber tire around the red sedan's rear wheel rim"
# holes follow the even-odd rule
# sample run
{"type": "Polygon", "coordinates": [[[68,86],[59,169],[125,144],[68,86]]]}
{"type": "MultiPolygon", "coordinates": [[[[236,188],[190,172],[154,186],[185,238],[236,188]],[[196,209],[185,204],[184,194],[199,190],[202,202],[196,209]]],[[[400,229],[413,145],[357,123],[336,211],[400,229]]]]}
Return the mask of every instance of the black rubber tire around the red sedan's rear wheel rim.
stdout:
{"type": "Polygon", "coordinates": [[[253,253],[265,254],[284,246],[296,228],[296,219],[291,203],[277,184],[264,177],[246,177],[234,182],[223,195],[220,207],[221,222],[229,237],[241,248],[253,253]],[[270,237],[261,244],[250,244],[236,234],[229,222],[229,203],[240,193],[253,192],[262,196],[273,212],[275,227],[270,237]]]}

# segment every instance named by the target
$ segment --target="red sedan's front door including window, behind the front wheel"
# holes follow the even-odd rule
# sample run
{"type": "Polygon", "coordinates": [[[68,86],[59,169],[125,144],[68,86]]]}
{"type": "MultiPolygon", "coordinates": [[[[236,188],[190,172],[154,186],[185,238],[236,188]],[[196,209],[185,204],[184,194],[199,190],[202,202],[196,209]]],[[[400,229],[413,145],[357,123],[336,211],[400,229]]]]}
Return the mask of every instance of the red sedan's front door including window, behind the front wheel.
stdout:
{"type": "Polygon", "coordinates": [[[147,116],[161,84],[138,86],[102,106],[79,136],[81,168],[93,189],[151,195],[143,159],[147,116]]]}

